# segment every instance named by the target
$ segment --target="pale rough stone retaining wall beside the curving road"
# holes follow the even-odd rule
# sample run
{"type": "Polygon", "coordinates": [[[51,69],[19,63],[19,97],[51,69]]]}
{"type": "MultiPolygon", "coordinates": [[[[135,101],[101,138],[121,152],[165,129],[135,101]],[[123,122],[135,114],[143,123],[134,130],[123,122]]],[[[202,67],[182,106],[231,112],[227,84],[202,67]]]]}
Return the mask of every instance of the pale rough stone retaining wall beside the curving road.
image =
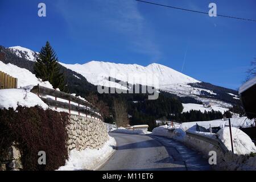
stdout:
{"type": "Polygon", "coordinates": [[[109,140],[104,122],[93,118],[71,114],[67,131],[69,151],[74,148],[79,151],[99,149],[109,140]]]}

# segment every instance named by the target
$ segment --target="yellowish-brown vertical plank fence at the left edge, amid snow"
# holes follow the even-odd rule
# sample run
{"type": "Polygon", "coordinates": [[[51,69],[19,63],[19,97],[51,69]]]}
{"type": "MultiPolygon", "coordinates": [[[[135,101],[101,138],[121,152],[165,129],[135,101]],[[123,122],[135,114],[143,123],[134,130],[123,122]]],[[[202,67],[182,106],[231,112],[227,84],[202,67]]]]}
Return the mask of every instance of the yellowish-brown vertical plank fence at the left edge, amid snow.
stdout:
{"type": "Polygon", "coordinates": [[[0,71],[0,89],[16,89],[18,79],[0,71]]]}

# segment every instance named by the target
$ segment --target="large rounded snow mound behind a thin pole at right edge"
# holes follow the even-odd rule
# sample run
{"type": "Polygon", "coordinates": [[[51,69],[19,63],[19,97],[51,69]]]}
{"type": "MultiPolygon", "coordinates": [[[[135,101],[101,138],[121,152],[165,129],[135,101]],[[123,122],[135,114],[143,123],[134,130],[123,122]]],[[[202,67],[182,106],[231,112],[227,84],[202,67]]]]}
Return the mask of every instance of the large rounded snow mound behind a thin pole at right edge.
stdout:
{"type": "MultiPolygon", "coordinates": [[[[236,127],[231,127],[231,129],[235,154],[245,155],[250,154],[251,152],[256,152],[255,144],[251,141],[251,138],[246,133],[240,129],[237,129],[236,127]]],[[[228,150],[232,150],[229,127],[224,127],[224,129],[218,131],[217,135],[228,150]]]]}

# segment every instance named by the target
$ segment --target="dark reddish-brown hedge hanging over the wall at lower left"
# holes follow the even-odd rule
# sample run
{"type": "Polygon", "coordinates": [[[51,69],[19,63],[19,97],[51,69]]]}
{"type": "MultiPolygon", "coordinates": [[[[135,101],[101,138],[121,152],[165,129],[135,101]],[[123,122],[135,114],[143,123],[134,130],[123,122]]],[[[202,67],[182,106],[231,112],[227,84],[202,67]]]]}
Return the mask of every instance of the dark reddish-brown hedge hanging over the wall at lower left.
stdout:
{"type": "Polygon", "coordinates": [[[0,155],[13,143],[20,150],[23,170],[55,170],[68,159],[66,126],[69,114],[21,107],[0,110],[0,155]],[[46,152],[46,165],[38,164],[38,152],[46,152]]]}

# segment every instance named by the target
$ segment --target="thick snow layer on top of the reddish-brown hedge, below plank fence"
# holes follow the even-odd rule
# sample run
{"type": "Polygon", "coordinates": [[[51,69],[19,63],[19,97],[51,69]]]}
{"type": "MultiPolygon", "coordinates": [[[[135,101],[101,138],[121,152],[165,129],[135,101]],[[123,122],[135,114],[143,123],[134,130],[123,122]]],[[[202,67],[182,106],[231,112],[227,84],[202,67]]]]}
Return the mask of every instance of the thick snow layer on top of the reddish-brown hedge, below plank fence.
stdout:
{"type": "Polygon", "coordinates": [[[47,109],[48,106],[40,100],[36,94],[27,92],[23,89],[2,89],[0,90],[0,109],[9,109],[10,107],[16,110],[18,106],[34,107],[40,106],[47,109]]]}

